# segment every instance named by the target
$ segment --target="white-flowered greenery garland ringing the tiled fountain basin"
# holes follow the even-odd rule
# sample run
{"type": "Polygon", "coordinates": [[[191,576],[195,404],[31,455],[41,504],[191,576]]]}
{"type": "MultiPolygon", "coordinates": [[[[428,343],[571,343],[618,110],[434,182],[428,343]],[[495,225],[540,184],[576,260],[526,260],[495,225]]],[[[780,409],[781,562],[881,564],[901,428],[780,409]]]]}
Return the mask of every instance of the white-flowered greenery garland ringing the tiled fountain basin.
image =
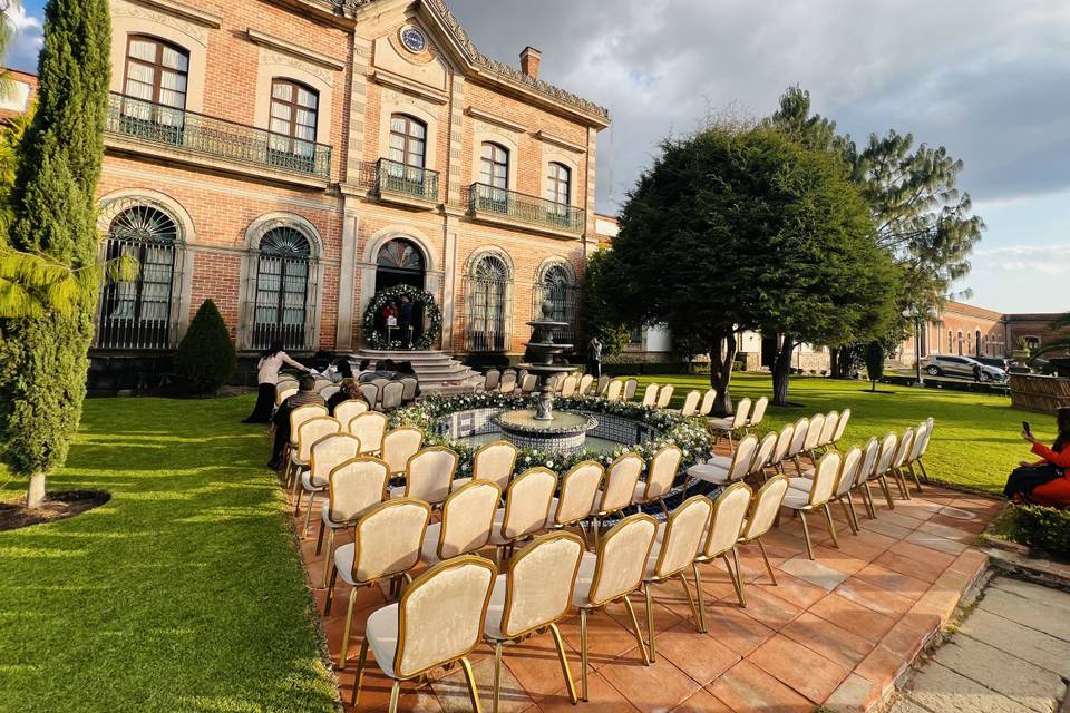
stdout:
{"type": "MultiPolygon", "coordinates": [[[[449,436],[434,432],[438,419],[458,411],[475,411],[478,409],[534,408],[536,394],[510,397],[500,392],[467,393],[441,397],[425,397],[405,409],[395,411],[390,419],[390,428],[415,426],[426,433],[425,442],[430,446],[446,446],[460,456],[458,475],[464,476],[471,471],[471,459],[478,446],[465,443],[449,436]]],[[[658,430],[658,438],[632,446],[621,445],[612,453],[596,450],[582,450],[574,453],[557,453],[535,448],[522,448],[516,459],[516,472],[528,468],[545,466],[558,473],[585,460],[594,460],[609,465],[625,452],[639,453],[644,461],[669,445],[675,445],[683,451],[681,470],[687,470],[697,462],[703,462],[713,455],[713,445],[710,441],[706,422],[701,418],[683,417],[671,411],[650,409],[638,403],[625,401],[606,401],[599,397],[556,397],[554,408],[563,411],[584,411],[587,413],[611,413],[622,418],[642,421],[658,430]]]]}

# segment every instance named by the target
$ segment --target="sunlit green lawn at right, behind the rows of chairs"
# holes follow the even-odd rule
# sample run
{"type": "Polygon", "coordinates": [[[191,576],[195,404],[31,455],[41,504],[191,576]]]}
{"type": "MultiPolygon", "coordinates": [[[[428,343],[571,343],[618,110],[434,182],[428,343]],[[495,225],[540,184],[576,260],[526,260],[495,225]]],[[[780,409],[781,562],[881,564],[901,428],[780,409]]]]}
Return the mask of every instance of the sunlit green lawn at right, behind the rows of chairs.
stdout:
{"type": "MultiPolygon", "coordinates": [[[[674,408],[689,390],[709,388],[709,377],[644,377],[640,382],[674,384],[674,408]]],[[[869,393],[868,388],[868,382],[860,381],[792,379],[789,400],[799,406],[770,407],[759,430],[766,432],[804,416],[849,408],[852,417],[843,445],[860,446],[870,436],[902,431],[933,417],[936,428],[925,456],[930,477],[992,494],[1002,492],[1008,473],[1020,460],[1034,459],[1019,438],[1023,420],[1031,421],[1033,432],[1042,440],[1054,440],[1052,417],[1015,411],[1006,397],[889,384],[878,384],[878,393],[869,393]]],[[[772,381],[768,375],[737,373],[731,390],[735,400],[757,399],[771,394],[772,381]]]]}

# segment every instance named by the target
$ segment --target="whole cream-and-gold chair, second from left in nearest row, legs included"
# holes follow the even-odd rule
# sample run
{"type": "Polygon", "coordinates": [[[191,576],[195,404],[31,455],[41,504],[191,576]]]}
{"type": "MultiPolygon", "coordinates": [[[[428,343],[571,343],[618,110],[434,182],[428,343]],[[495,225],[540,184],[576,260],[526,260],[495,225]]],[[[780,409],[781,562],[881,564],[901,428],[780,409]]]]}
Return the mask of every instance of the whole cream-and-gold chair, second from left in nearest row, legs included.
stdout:
{"type": "Polygon", "coordinates": [[[483,635],[494,644],[493,713],[497,713],[500,697],[503,644],[519,642],[547,628],[557,647],[568,699],[573,705],[578,702],[557,622],[572,608],[582,557],[583,541],[578,537],[571,533],[552,533],[521,550],[509,560],[505,574],[495,580],[483,629],[483,635]]]}

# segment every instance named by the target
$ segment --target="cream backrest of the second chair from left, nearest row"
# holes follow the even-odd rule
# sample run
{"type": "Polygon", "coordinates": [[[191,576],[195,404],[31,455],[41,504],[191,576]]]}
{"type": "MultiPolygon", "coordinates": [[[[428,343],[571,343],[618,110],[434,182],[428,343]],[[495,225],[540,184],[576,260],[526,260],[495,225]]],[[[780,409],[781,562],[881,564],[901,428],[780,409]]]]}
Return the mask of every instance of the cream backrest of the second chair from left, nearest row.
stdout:
{"type": "Polygon", "coordinates": [[[535,539],[509,561],[502,634],[514,638],[553,624],[568,613],[583,540],[572,533],[535,539]]]}

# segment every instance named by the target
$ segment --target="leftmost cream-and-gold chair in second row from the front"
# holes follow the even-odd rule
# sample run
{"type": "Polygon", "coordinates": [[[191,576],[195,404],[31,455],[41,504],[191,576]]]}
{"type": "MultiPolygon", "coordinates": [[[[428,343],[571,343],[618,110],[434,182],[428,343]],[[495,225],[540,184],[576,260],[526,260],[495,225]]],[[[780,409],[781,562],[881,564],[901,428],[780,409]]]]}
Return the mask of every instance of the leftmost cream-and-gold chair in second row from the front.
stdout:
{"type": "Polygon", "coordinates": [[[420,543],[431,519],[431,507],[419,500],[382,502],[357,520],[353,541],[334,550],[331,576],[327,586],[323,615],[331,613],[334,584],[341,576],[350,585],[349,609],[342,635],[339,668],[346,667],[349,653],[349,632],[353,623],[353,605],[362,587],[391,582],[406,576],[420,560],[420,543]]]}

